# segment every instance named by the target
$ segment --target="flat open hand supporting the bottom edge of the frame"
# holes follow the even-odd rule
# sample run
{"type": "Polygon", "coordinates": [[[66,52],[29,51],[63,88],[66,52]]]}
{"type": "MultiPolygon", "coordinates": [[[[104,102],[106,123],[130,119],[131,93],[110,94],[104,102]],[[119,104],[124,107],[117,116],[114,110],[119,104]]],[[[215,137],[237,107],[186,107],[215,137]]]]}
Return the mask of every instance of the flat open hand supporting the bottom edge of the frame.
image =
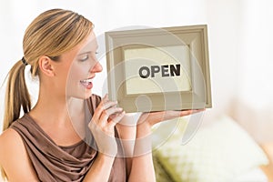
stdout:
{"type": "Polygon", "coordinates": [[[138,124],[146,122],[149,126],[154,126],[161,121],[166,121],[180,116],[189,116],[204,110],[205,109],[188,109],[182,111],[158,111],[143,113],[138,119],[138,124]]]}

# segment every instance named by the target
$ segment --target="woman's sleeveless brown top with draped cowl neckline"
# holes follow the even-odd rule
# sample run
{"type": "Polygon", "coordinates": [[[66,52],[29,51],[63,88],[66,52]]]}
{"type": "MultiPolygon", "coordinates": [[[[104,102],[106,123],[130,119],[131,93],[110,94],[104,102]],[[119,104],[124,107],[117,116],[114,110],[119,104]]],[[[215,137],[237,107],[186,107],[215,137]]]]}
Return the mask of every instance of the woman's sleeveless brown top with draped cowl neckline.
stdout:
{"type": "MultiPolygon", "coordinates": [[[[93,115],[100,100],[100,97],[95,95],[87,100],[90,116],[93,115]]],[[[96,150],[84,140],[69,147],[57,146],[28,114],[16,120],[11,128],[22,137],[28,157],[40,181],[82,181],[96,158],[96,150]]],[[[124,158],[116,157],[109,181],[126,181],[124,158]]]]}

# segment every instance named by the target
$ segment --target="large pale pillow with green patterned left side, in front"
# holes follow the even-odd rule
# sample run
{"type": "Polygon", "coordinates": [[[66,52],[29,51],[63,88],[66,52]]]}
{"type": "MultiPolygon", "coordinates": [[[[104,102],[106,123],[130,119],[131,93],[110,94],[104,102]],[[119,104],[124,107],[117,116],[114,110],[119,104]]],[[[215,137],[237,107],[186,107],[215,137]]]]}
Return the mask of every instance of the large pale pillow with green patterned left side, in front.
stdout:
{"type": "Polygon", "coordinates": [[[175,132],[154,151],[175,181],[230,181],[248,169],[268,164],[258,144],[227,116],[200,128],[185,146],[181,138],[181,133],[175,132]]]}

